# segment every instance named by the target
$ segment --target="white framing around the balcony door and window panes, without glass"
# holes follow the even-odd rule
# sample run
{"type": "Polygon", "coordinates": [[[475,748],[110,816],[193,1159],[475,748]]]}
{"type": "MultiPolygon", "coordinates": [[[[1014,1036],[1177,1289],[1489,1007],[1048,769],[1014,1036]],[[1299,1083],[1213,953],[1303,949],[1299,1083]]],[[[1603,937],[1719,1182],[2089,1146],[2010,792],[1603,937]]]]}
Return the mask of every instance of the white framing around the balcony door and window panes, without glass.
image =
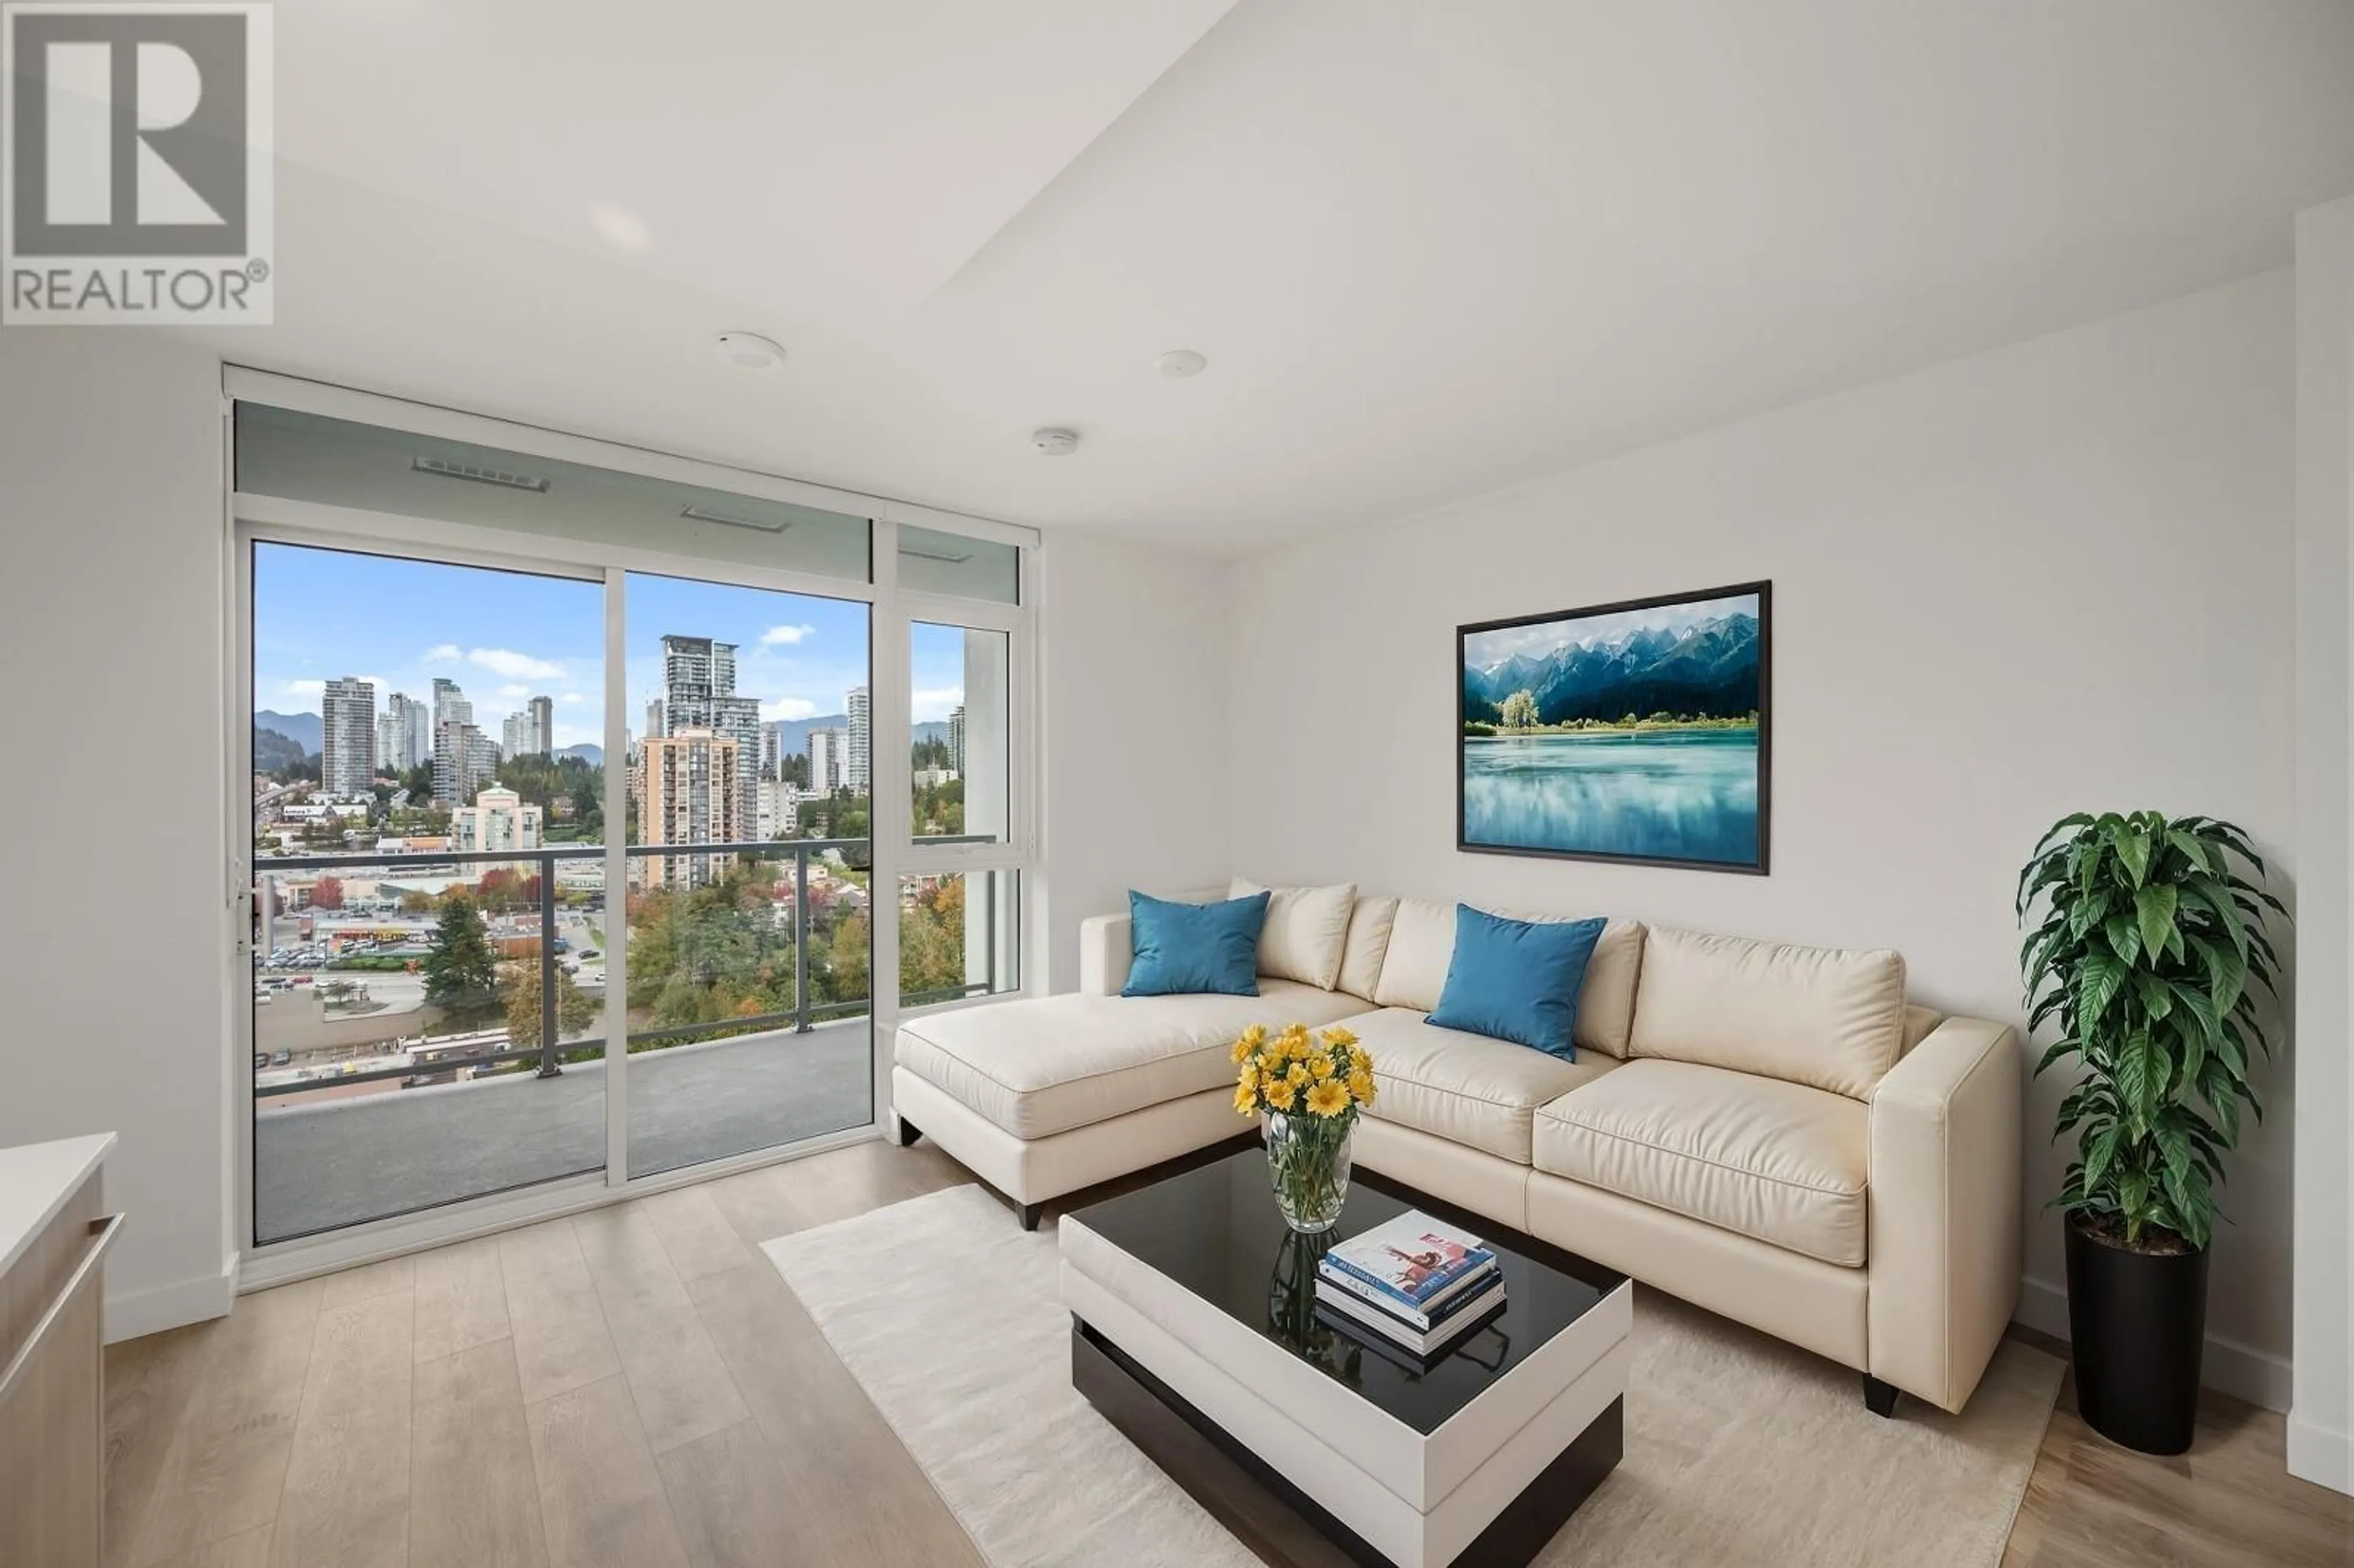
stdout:
{"type": "MultiPolygon", "coordinates": [[[[224,848],[226,848],[226,895],[233,909],[231,939],[224,954],[226,1008],[221,1050],[228,1062],[231,1088],[231,1161],[235,1187],[235,1234],[242,1255],[242,1288],[280,1283],[308,1274],[351,1267],[374,1257],[391,1257],[419,1245],[435,1245],[461,1236],[504,1229],[527,1220],[553,1217],[617,1203],[624,1198],[706,1182],[734,1170],[772,1165],[805,1154],[880,1137],[890,1111],[890,1036],[904,1012],[932,1012],[965,1008],[986,1001],[1022,996],[1043,979],[1043,965],[1033,963],[1029,942],[1019,944],[1019,972],[1008,991],[979,998],[960,998],[906,1010],[899,1005],[899,923],[876,918],[871,923],[871,975],[890,984],[871,986],[869,1026],[873,1059],[873,1121],[843,1132],[756,1149],[749,1154],[666,1170],[657,1175],[629,1175],[629,942],[607,944],[607,1015],[605,1015],[605,1170],[581,1172],[539,1182],[518,1191],[461,1198],[438,1208],[388,1215],[360,1224],[341,1227],[315,1236],[297,1236],[275,1243],[254,1238],[254,1107],[250,1090],[250,1059],[254,1012],[245,1005],[252,984],[252,921],[247,899],[254,883],[252,852],[252,551],[257,544],[294,544],[410,560],[433,560],[447,565],[534,572],[541,577],[567,577],[603,584],[605,605],[605,704],[603,730],[605,753],[621,756],[619,737],[629,727],[626,699],[626,647],[624,605],[626,574],[652,572],[664,577],[692,577],[701,582],[737,584],[779,593],[810,593],[822,598],[862,600],[869,605],[869,831],[873,833],[873,885],[897,888],[902,876],[944,871],[1015,871],[1024,873],[1017,888],[1015,921],[1024,937],[1033,928],[1038,897],[1038,772],[1043,753],[1038,744],[1038,662],[1036,662],[1036,553],[1040,537],[1036,530],[951,513],[909,501],[892,501],[852,490],[812,485],[725,464],[709,464],[673,457],[647,447],[570,436],[544,426],[513,424],[485,414],[466,414],[426,403],[407,403],[377,393],[351,391],[320,381],[282,377],[273,372],[224,365],[221,372],[221,539],[231,553],[231,570],[224,574],[224,612],[228,655],[228,702],[231,732],[224,749],[224,848]],[[732,490],[737,494],[814,506],[847,516],[869,518],[869,579],[822,577],[786,567],[742,565],[701,556],[671,553],[647,546],[598,544],[563,534],[523,534],[476,523],[447,523],[417,518],[410,513],[384,513],[360,506],[334,506],[325,501],[299,501],[287,497],[250,494],[235,490],[235,405],[264,403],[332,419],[351,419],[417,436],[440,436],[485,447],[501,447],[518,454],[558,461],[619,469],[645,478],[676,480],[709,490],[732,490]],[[975,539],[1012,544],[1022,551],[1017,560],[1019,605],[993,600],[965,600],[932,593],[902,593],[897,530],[913,523],[930,530],[967,534],[975,539]],[[958,624],[1008,633],[1008,843],[1003,845],[932,845],[923,850],[913,841],[911,770],[909,749],[913,725],[909,716],[909,636],[916,622],[958,624]],[[897,737],[890,744],[878,737],[897,737]]],[[[626,822],[626,768],[605,770],[605,822],[626,822]]],[[[626,833],[607,831],[605,873],[607,888],[626,888],[626,833]]],[[[890,904],[895,909],[895,902],[890,904]]],[[[626,923],[624,923],[626,925],[626,923]]]]}

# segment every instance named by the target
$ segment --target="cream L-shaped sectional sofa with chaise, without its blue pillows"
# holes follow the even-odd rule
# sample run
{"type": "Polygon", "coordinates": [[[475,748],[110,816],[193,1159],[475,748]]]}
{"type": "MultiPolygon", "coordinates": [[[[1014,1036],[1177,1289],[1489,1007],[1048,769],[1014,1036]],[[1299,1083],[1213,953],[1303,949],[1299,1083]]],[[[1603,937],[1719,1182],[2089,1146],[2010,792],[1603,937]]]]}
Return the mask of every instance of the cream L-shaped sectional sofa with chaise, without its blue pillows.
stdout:
{"type": "Polygon", "coordinates": [[[895,1048],[902,1142],[1026,1227],[1233,1137],[1245,1024],[1346,1022],[1379,1085],[1358,1165],[1857,1368],[1881,1415],[1897,1389],[1959,1410],[2017,1304],[2017,1034],[1907,1005],[1893,951],[1612,921],[1565,1062],[1424,1022],[1452,904],[1278,890],[1259,996],[1123,998],[1128,916],[1080,942],[1078,994],[916,1017],[895,1048]]]}

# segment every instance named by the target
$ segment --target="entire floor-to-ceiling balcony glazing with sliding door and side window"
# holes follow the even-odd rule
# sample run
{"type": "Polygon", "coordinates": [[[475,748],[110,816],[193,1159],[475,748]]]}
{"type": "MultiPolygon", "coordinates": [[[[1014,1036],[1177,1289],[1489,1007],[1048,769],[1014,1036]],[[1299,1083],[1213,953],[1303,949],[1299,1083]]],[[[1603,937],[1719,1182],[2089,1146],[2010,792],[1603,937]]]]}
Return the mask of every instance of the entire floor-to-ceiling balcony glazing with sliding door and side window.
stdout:
{"type": "Polygon", "coordinates": [[[254,1278],[871,1132],[1022,986],[1017,530],[231,384],[254,1278]]]}

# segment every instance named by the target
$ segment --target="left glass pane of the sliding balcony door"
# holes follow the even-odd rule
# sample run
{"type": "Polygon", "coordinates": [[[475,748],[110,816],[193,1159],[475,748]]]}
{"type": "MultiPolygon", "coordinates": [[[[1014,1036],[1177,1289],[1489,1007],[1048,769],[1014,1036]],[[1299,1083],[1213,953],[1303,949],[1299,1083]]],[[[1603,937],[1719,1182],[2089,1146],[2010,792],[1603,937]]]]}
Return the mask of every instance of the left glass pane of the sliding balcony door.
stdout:
{"type": "Polygon", "coordinates": [[[603,1170],[605,584],[250,584],[254,1241],[603,1170]]]}

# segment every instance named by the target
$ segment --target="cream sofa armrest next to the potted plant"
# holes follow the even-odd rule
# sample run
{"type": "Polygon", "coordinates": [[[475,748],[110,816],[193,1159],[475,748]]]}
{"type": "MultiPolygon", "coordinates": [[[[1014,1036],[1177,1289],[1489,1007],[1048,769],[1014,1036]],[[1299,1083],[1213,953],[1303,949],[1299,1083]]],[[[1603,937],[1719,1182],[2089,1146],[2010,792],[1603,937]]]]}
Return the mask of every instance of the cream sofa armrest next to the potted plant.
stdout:
{"type": "Polygon", "coordinates": [[[1949,1017],[1871,1092],[1869,1361],[1961,1410],[2020,1304],[2020,1036],[1949,1017]]]}

